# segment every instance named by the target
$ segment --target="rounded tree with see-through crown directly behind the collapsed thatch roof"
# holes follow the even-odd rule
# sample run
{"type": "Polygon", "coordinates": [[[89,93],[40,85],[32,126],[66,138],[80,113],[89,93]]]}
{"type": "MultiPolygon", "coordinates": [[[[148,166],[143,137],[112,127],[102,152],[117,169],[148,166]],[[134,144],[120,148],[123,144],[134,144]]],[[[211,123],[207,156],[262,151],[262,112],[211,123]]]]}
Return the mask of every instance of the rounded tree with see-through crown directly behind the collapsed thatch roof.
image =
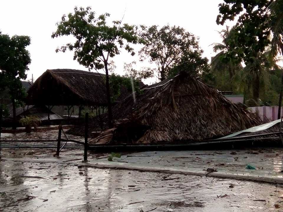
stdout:
{"type": "MultiPolygon", "coordinates": [[[[198,38],[182,27],[166,25],[158,28],[156,25],[149,28],[141,26],[139,35],[145,44],[139,55],[141,61],[149,58],[150,63],[157,65],[159,79],[162,81],[170,76],[173,67],[185,62],[198,62],[203,50],[198,45],[198,38]]],[[[187,68],[189,67],[194,68],[187,68]]]]}

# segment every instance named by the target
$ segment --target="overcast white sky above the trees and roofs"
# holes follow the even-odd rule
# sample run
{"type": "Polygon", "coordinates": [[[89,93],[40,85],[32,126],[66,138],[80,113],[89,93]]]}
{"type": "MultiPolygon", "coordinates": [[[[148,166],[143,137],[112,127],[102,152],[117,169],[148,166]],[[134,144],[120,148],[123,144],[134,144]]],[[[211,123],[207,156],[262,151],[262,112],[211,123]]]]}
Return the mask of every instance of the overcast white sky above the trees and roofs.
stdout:
{"type": "MultiPolygon", "coordinates": [[[[210,59],[215,55],[213,42],[221,42],[221,38],[215,30],[221,30],[224,26],[218,26],[215,22],[218,15],[218,4],[222,0],[198,0],[198,1],[135,1],[135,0],[66,0],[66,1],[1,1],[0,3],[0,29],[3,34],[28,35],[31,37],[31,45],[28,47],[32,62],[27,72],[28,78],[32,74],[36,79],[46,69],[70,68],[88,70],[73,61],[73,53],[55,53],[55,49],[65,44],[70,39],[66,37],[51,38],[56,30],[56,22],[60,21],[62,14],[73,12],[74,6],[91,6],[99,15],[105,12],[111,14],[111,19],[121,20],[124,11],[124,23],[144,24],[147,26],[163,26],[167,23],[185,28],[200,38],[200,47],[204,50],[203,56],[210,59]]],[[[232,25],[231,23],[227,25],[232,25]]],[[[124,62],[137,60],[126,52],[114,58],[117,69],[115,73],[123,74],[124,62]]],[[[139,66],[139,65],[138,65],[139,66]]]]}

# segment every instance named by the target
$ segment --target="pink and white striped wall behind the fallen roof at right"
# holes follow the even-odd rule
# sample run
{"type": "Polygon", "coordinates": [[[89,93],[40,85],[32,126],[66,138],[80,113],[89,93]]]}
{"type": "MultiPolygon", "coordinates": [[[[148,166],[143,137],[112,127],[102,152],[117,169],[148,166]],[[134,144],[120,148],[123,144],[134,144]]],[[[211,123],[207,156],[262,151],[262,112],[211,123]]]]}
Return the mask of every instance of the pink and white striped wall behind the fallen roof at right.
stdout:
{"type": "MultiPolygon", "coordinates": [[[[261,106],[249,107],[254,113],[258,114],[264,122],[277,120],[278,106],[261,106]]],[[[283,116],[283,108],[281,108],[281,116],[283,116]]]]}

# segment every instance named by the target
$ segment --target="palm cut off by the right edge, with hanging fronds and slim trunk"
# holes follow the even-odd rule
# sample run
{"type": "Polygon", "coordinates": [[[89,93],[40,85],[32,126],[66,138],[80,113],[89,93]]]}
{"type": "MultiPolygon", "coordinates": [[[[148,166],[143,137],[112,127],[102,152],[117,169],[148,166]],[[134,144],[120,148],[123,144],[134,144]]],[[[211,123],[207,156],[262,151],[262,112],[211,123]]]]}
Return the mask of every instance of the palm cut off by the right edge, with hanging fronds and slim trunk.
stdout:
{"type": "MultiPolygon", "coordinates": [[[[272,53],[277,55],[281,53],[283,55],[283,1],[277,0],[273,1],[269,5],[269,28],[272,32],[271,44],[272,53]]],[[[279,94],[279,104],[278,104],[278,119],[281,116],[281,104],[282,104],[282,92],[283,92],[283,73],[281,79],[281,89],[279,94]]]]}

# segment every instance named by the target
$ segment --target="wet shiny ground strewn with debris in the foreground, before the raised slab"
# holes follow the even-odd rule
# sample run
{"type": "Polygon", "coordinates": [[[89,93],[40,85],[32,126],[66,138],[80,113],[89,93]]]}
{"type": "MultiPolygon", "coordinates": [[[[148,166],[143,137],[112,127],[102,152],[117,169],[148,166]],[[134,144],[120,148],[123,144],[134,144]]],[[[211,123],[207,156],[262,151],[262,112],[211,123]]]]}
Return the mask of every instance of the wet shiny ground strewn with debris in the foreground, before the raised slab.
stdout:
{"type": "MultiPolygon", "coordinates": [[[[153,211],[281,211],[283,208],[282,184],[80,167],[82,150],[63,151],[60,158],[52,157],[53,152],[1,149],[0,211],[145,212],[154,208],[153,211]]],[[[131,155],[137,154],[141,155],[131,155]]],[[[131,163],[140,163],[148,158],[126,156],[118,160],[129,158],[131,163]]],[[[90,154],[89,160],[108,161],[107,154],[90,154]]]]}

